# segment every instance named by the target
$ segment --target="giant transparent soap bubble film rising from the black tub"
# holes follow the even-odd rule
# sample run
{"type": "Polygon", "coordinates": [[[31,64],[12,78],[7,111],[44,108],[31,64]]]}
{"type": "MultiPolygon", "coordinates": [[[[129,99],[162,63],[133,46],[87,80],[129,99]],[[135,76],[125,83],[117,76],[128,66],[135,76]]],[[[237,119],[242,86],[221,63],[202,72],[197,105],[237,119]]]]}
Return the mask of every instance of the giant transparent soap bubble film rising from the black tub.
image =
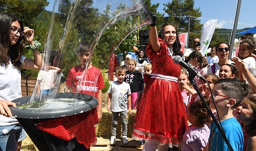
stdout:
{"type": "Polygon", "coordinates": [[[86,70],[88,65],[101,70],[127,35],[150,23],[151,16],[142,0],[56,0],[46,34],[44,66],[38,74],[33,95],[20,108],[72,108],[95,99],[97,76],[89,81],[89,86],[83,86],[90,77],[86,70]],[[89,52],[89,60],[79,69],[83,72],[78,86],[65,87],[65,92],[73,92],[72,95],[62,98],[61,79],[66,79],[69,70],[80,64],[77,54],[81,52],[77,53],[77,47],[81,43],[87,45],[85,51],[89,52]],[[81,92],[87,95],[81,97],[81,92]]]}

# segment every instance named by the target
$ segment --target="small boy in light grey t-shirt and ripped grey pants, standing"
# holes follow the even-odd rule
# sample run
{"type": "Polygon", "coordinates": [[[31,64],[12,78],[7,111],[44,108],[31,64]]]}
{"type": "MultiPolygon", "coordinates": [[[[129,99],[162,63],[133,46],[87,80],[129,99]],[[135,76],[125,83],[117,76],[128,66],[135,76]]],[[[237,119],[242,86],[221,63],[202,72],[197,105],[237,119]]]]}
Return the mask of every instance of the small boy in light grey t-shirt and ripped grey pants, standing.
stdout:
{"type": "Polygon", "coordinates": [[[126,70],[123,66],[118,66],[115,69],[115,76],[117,81],[113,81],[110,84],[108,99],[107,99],[107,110],[112,112],[111,121],[111,140],[110,145],[115,144],[116,131],[117,131],[117,121],[120,114],[120,120],[122,124],[122,136],[123,144],[128,144],[127,139],[127,102],[128,102],[128,112],[131,114],[131,89],[128,83],[125,83],[126,70]],[[110,104],[111,102],[111,104],[110,104]]]}

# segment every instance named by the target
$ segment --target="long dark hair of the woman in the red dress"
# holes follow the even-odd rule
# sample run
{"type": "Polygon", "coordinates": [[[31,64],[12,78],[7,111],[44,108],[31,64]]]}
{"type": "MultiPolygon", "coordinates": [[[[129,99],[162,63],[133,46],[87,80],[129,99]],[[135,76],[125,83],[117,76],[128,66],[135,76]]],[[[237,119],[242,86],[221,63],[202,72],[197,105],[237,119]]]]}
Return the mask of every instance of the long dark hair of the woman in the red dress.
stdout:
{"type": "Polygon", "coordinates": [[[176,40],[175,40],[175,43],[173,43],[173,56],[181,56],[182,57],[183,53],[181,52],[181,43],[179,41],[179,33],[177,31],[177,28],[173,24],[167,23],[167,24],[162,25],[162,27],[159,31],[158,37],[164,40],[164,38],[163,38],[163,29],[168,25],[172,25],[175,28],[175,31],[176,31],[176,40]]]}

